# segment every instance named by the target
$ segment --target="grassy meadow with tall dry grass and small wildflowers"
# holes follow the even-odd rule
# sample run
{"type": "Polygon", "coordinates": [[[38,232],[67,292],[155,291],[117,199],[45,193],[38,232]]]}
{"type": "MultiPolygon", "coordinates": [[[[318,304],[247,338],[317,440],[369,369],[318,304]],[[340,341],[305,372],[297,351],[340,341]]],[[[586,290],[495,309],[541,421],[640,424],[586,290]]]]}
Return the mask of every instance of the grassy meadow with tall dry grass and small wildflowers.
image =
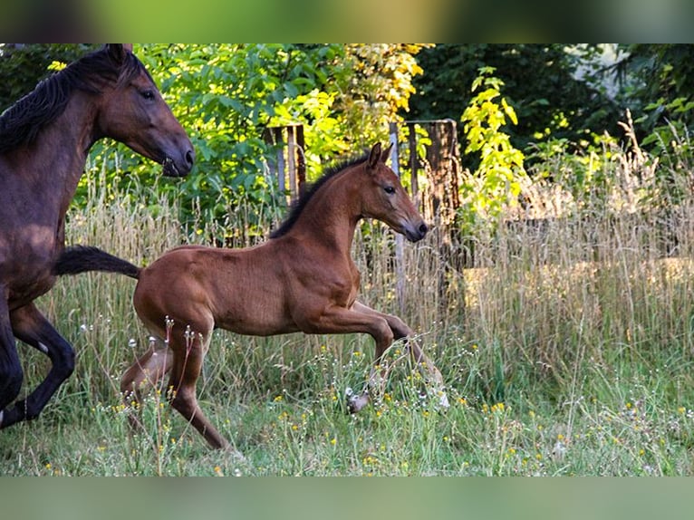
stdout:
{"type": "MultiPolygon", "coordinates": [[[[134,282],[59,280],[39,306],[74,345],[76,370],[38,419],[0,432],[0,475],[691,475],[694,207],[630,207],[642,186],[620,164],[608,173],[629,182],[616,198],[558,203],[565,194],[537,182],[534,209],[509,210],[473,236],[434,226],[400,260],[390,230],[358,229],[361,300],[417,332],[448,409],[399,343],[381,394],[349,415],[345,394],[371,369],[369,336],[215,332],[198,399],[245,460],[207,448],[163,388],[142,403],[145,431],[131,434],[120,375],[149,343],[130,303],[134,282]],[[574,210],[550,211],[552,201],[574,210]],[[526,221],[538,207],[546,218],[526,221]]],[[[235,207],[223,224],[182,226],[176,202],[154,188],[133,179],[117,191],[93,177],[87,207],[69,212],[68,242],[139,265],[218,236],[255,244],[284,216],[282,206],[235,207]],[[250,215],[261,222],[254,233],[250,215]]],[[[47,361],[25,345],[20,354],[25,391],[47,361]]]]}

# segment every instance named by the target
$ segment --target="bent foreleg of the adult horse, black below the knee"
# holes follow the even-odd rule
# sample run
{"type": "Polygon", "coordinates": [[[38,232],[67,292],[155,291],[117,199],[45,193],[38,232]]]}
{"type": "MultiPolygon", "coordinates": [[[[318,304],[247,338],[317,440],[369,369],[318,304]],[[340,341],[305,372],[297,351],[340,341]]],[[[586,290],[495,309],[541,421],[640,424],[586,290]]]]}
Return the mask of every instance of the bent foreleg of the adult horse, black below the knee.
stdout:
{"type": "Polygon", "coordinates": [[[14,403],[12,409],[5,409],[2,427],[20,420],[35,419],[53,397],[55,390],[58,390],[74,370],[72,346],[55,331],[34,303],[15,309],[10,313],[10,322],[14,336],[45,353],[53,366],[43,382],[29,396],[14,403]]]}

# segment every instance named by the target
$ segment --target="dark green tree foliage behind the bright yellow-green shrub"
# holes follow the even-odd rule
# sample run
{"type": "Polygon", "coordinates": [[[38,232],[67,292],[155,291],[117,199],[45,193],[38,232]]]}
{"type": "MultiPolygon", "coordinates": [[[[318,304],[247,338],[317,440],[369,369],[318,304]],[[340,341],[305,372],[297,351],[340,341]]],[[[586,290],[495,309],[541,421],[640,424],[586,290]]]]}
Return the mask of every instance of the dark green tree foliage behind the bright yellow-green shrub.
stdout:
{"type": "MultiPolygon", "coordinates": [[[[431,120],[459,113],[473,97],[469,85],[479,69],[494,67],[518,116],[518,124],[507,130],[517,149],[526,151],[538,133],[573,142],[589,131],[613,134],[619,106],[603,90],[602,78],[582,73],[586,64],[598,62],[599,50],[594,45],[487,43],[423,49],[417,59],[424,73],[414,81],[412,116],[431,120]]],[[[463,137],[461,131],[458,140],[463,137]]]]}

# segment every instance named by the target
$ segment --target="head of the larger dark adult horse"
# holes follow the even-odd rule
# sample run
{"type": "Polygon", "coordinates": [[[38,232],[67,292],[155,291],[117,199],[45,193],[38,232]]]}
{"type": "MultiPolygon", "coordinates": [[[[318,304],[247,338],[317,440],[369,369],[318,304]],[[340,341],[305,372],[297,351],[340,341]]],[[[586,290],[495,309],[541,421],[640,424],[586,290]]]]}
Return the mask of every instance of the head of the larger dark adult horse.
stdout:
{"type": "Polygon", "coordinates": [[[97,123],[101,134],[159,162],[164,175],[188,174],[195,161],[193,145],[132,46],[113,43],[105,52],[120,73],[118,82],[102,92],[97,123]]]}

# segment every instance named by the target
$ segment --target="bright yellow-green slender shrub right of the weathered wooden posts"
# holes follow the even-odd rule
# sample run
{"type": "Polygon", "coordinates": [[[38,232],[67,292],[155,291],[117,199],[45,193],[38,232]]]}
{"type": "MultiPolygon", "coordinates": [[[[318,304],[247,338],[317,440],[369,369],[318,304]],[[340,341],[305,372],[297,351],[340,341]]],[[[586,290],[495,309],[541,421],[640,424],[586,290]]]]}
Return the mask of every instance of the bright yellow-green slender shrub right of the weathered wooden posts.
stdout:
{"type": "Polygon", "coordinates": [[[525,178],[523,153],[516,149],[506,133],[506,119],[517,124],[516,111],[501,97],[504,82],[494,77],[494,67],[483,67],[472,83],[477,92],[461,120],[466,136],[466,154],[477,155],[477,169],[463,184],[467,205],[460,217],[468,225],[478,219],[497,217],[502,208],[520,194],[525,178]]]}

